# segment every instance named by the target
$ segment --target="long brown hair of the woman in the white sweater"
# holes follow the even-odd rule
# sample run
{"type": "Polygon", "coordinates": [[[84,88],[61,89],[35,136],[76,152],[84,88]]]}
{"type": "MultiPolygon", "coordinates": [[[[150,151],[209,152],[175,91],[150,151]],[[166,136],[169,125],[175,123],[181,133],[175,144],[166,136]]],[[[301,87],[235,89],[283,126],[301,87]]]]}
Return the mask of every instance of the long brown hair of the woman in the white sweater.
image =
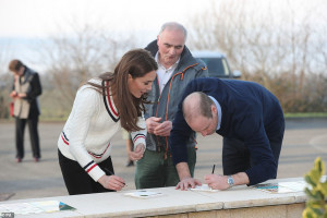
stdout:
{"type": "MultiPolygon", "coordinates": [[[[133,77],[143,77],[145,74],[156,71],[157,62],[149,51],[144,49],[133,49],[128,51],[116,65],[113,73],[104,73],[99,76],[102,81],[110,81],[111,95],[117,98],[117,109],[120,116],[121,126],[129,132],[142,130],[137,126],[138,117],[145,111],[144,104],[147,95],[142,95],[141,98],[135,98],[128,85],[129,74],[133,77]],[[112,85],[113,84],[113,85],[112,85]]],[[[98,88],[106,96],[104,89],[108,88],[109,83],[97,85],[90,82],[87,84],[98,88]],[[108,84],[108,85],[106,85],[108,84]]]]}

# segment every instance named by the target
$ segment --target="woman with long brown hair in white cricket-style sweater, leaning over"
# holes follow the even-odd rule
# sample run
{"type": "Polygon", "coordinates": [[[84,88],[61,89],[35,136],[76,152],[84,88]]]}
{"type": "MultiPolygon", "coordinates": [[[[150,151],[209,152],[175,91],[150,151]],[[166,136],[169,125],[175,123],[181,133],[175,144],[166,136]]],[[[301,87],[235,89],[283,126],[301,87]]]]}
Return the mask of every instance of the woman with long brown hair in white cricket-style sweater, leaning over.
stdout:
{"type": "Polygon", "coordinates": [[[69,194],[120,191],[125,182],[114,175],[110,143],[124,128],[131,132],[134,160],[143,157],[146,94],[156,77],[157,63],[144,49],[126,52],[113,73],[84,84],[59,136],[59,164],[69,194]]]}

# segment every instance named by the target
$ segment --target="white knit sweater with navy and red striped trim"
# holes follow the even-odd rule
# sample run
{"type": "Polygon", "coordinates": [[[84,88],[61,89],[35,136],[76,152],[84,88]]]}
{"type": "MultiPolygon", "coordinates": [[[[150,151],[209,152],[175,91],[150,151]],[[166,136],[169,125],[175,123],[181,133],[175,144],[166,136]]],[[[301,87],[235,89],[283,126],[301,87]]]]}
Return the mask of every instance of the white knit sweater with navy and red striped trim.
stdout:
{"type": "MultiPolygon", "coordinates": [[[[92,82],[100,84],[99,80],[92,82]]],[[[131,133],[133,143],[145,145],[146,125],[143,117],[138,118],[137,125],[144,130],[131,133]]],[[[76,160],[95,181],[98,181],[105,172],[97,162],[110,156],[110,141],[120,129],[112,96],[104,97],[90,88],[90,85],[84,85],[76,94],[71,114],[59,136],[58,147],[63,156],[76,160]]]]}

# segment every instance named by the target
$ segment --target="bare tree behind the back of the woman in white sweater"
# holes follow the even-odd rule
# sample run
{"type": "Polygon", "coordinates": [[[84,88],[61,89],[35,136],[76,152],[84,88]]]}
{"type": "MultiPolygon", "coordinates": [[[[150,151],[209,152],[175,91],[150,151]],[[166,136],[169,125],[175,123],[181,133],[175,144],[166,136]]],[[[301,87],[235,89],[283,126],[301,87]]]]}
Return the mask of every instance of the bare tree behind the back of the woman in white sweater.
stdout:
{"type": "Polygon", "coordinates": [[[82,83],[112,71],[120,56],[136,44],[132,35],[122,37],[89,25],[72,29],[41,43],[43,62],[53,86],[48,97],[60,105],[62,116],[70,111],[82,83]]]}

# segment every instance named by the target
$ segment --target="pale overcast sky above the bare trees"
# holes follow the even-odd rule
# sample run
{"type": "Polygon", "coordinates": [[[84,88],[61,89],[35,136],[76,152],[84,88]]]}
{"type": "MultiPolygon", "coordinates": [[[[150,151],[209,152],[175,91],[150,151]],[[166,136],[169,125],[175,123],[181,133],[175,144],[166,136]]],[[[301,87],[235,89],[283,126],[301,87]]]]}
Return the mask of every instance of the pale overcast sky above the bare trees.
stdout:
{"type": "MultiPolygon", "coordinates": [[[[29,55],[33,40],[24,38],[47,38],[69,33],[72,23],[99,26],[109,33],[141,33],[144,45],[140,46],[145,46],[156,38],[165,22],[177,21],[187,26],[189,19],[195,13],[206,12],[213,7],[213,1],[222,0],[0,0],[0,59],[1,50],[9,51],[4,57],[9,59],[33,58],[29,55]]],[[[300,22],[303,14],[314,11],[312,25],[317,26],[323,21],[319,17],[326,16],[327,11],[327,0],[223,1],[234,4],[245,2],[250,13],[257,14],[258,22],[265,22],[259,14],[272,8],[277,15],[284,11],[300,22]]]]}

